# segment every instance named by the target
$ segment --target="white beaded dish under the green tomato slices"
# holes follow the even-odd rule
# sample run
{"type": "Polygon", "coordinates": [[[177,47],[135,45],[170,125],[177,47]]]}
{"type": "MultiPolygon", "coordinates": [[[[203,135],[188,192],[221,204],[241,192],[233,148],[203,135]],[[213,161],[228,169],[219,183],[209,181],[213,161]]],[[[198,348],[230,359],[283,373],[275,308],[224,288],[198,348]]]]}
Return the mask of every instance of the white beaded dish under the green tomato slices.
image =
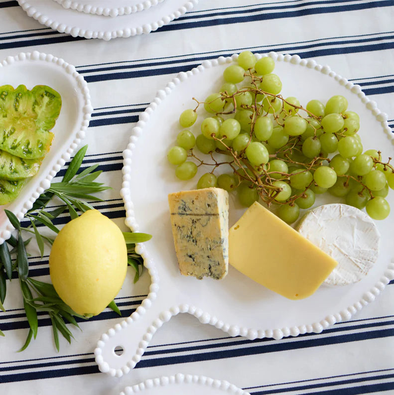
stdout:
{"type": "Polygon", "coordinates": [[[34,51],[8,56],[0,63],[1,85],[12,85],[14,88],[25,85],[27,89],[35,85],[47,85],[59,92],[62,108],[51,130],[55,136],[40,170],[13,202],[0,206],[0,243],[8,239],[13,230],[4,209],[12,211],[19,220],[23,218],[85,137],[93,111],[84,78],[73,65],[53,55],[34,51]]]}

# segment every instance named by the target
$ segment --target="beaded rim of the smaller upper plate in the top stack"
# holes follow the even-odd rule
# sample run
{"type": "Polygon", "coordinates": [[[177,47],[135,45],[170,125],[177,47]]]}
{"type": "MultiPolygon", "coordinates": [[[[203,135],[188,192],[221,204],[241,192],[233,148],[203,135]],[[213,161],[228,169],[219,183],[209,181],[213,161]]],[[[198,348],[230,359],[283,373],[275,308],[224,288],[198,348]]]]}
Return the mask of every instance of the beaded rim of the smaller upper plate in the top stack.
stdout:
{"type": "Polygon", "coordinates": [[[135,12],[144,11],[145,9],[149,9],[150,7],[157,5],[164,0],[144,0],[141,2],[137,2],[136,4],[123,6],[123,7],[97,7],[91,4],[81,4],[78,0],[54,0],[63,8],[66,9],[74,9],[78,12],[84,12],[88,14],[94,15],[104,15],[115,17],[118,15],[130,15],[135,12]]]}

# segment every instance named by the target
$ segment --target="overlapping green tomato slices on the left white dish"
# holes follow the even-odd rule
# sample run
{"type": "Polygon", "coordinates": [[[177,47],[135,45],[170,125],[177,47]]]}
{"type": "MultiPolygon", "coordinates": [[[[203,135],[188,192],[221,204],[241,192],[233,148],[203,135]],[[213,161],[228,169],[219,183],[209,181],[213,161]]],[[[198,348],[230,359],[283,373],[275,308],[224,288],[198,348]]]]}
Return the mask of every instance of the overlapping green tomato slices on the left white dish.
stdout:
{"type": "Polygon", "coordinates": [[[49,151],[62,101],[45,85],[0,87],[0,205],[13,201],[49,151]]]}

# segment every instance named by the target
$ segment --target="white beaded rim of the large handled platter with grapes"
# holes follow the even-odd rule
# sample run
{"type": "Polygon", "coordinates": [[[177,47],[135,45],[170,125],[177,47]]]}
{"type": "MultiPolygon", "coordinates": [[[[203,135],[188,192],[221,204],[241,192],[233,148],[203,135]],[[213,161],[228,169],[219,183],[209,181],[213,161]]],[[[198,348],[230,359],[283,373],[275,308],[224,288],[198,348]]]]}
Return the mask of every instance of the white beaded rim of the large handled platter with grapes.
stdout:
{"type": "MultiPolygon", "coordinates": [[[[263,57],[262,54],[255,54],[257,59],[263,57]]],[[[361,101],[366,105],[366,108],[373,113],[378,122],[381,123],[384,131],[387,133],[389,139],[391,139],[394,144],[394,136],[391,132],[391,128],[387,123],[388,116],[385,113],[382,113],[378,108],[377,104],[374,101],[368,99],[364,92],[362,92],[361,87],[359,85],[355,85],[352,82],[349,82],[346,78],[337,75],[334,71],[330,69],[329,66],[322,66],[316,63],[313,59],[301,59],[298,55],[283,55],[277,54],[276,52],[269,52],[265,54],[265,56],[270,56],[275,61],[284,61],[293,64],[297,64],[300,66],[308,67],[310,69],[314,69],[323,74],[327,74],[330,77],[334,78],[340,85],[345,86],[350,92],[356,94],[361,101]]],[[[203,72],[206,68],[211,68],[219,65],[223,65],[225,63],[231,63],[237,60],[238,55],[232,55],[231,57],[219,57],[215,60],[205,60],[201,65],[189,70],[187,72],[179,73],[175,78],[170,81],[165,89],[159,90],[155,99],[152,103],[146,108],[146,110],[140,114],[139,121],[136,126],[131,131],[131,136],[129,140],[129,144],[127,148],[123,152],[123,184],[121,189],[121,196],[125,203],[126,210],[126,225],[128,225],[133,232],[138,232],[138,225],[135,222],[134,212],[133,212],[133,203],[131,201],[130,195],[130,176],[129,172],[131,170],[131,158],[132,151],[135,148],[135,143],[138,140],[138,136],[142,133],[143,128],[146,122],[149,120],[150,114],[156,109],[156,107],[160,104],[161,100],[164,99],[167,95],[171,94],[172,89],[185,81],[188,77],[191,77],[195,74],[203,72]]],[[[159,287],[158,282],[159,278],[157,275],[156,268],[154,263],[149,258],[149,253],[146,251],[145,247],[141,244],[137,245],[136,251],[142,256],[144,260],[144,266],[148,269],[148,272],[151,276],[151,284],[149,288],[149,294],[145,300],[148,300],[147,305],[150,306],[151,301],[156,297],[156,291],[159,287]]],[[[321,319],[318,322],[312,324],[305,324],[299,326],[293,326],[291,328],[276,328],[276,329],[251,329],[245,327],[239,327],[238,325],[231,325],[228,323],[224,323],[222,320],[218,319],[215,316],[211,316],[209,313],[202,311],[200,308],[196,308],[195,306],[189,306],[188,304],[181,304],[179,306],[173,306],[167,311],[163,311],[159,315],[160,322],[154,322],[151,325],[157,330],[163,322],[168,321],[172,316],[177,315],[178,313],[189,313],[194,315],[201,323],[210,324],[215,326],[218,329],[227,332],[230,336],[243,336],[248,338],[249,340],[254,339],[263,339],[263,338],[273,338],[275,340],[280,340],[283,337],[287,336],[298,336],[304,333],[320,333],[324,329],[327,329],[329,326],[334,325],[337,322],[349,320],[354,314],[360,311],[364,306],[373,302],[386,287],[386,285],[394,279],[394,263],[389,263],[386,270],[384,271],[380,280],[373,286],[369,291],[364,292],[362,298],[355,303],[353,303],[348,308],[335,313],[330,314],[327,317],[321,319]]],[[[145,307],[147,305],[143,305],[145,300],[142,302],[142,309],[140,306],[137,307],[136,311],[131,314],[122,324],[115,325],[114,328],[109,329],[106,333],[104,333],[97,344],[97,348],[95,349],[95,357],[96,363],[99,366],[101,372],[109,373],[111,376],[121,377],[123,374],[126,374],[130,371],[130,369],[134,368],[134,366],[139,362],[143,352],[145,351],[148,342],[144,342],[141,344],[143,347],[139,347],[136,350],[136,354],[133,356],[131,361],[129,361],[122,369],[114,369],[108,366],[102,357],[102,347],[104,347],[106,339],[115,335],[117,331],[122,329],[122,326],[130,324],[132,321],[136,320],[139,314],[143,314],[145,307]],[[140,309],[140,310],[139,310],[140,309]]]]}

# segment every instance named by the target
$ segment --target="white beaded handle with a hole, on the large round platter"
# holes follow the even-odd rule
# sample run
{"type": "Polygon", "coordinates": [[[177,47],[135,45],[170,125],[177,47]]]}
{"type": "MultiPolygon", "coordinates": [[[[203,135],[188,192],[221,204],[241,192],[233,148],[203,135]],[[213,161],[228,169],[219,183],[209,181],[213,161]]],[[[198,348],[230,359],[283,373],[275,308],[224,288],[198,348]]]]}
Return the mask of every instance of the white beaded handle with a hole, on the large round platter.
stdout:
{"type": "Polygon", "coordinates": [[[180,312],[165,297],[145,299],[130,317],[104,333],[97,342],[95,358],[101,372],[121,377],[139,362],[152,336],[164,322],[180,312]]]}

